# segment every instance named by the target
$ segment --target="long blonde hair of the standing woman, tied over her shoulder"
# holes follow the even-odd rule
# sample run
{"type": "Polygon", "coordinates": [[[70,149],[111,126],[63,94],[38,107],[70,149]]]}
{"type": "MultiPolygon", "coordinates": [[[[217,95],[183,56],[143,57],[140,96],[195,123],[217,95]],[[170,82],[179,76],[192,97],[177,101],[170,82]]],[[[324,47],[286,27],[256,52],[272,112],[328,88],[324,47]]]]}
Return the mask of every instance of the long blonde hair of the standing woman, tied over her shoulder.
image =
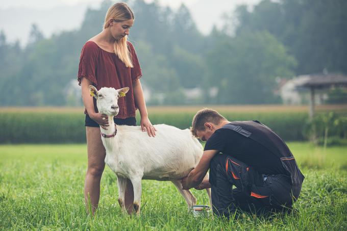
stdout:
{"type": "MultiPolygon", "coordinates": [[[[120,22],[129,19],[135,19],[135,16],[133,11],[126,3],[116,3],[111,6],[106,13],[104,29],[110,26],[110,19],[114,19],[116,22],[120,22]]],[[[134,67],[131,60],[130,50],[127,44],[127,37],[128,36],[124,36],[119,40],[115,40],[114,53],[127,67],[134,67]]]]}

